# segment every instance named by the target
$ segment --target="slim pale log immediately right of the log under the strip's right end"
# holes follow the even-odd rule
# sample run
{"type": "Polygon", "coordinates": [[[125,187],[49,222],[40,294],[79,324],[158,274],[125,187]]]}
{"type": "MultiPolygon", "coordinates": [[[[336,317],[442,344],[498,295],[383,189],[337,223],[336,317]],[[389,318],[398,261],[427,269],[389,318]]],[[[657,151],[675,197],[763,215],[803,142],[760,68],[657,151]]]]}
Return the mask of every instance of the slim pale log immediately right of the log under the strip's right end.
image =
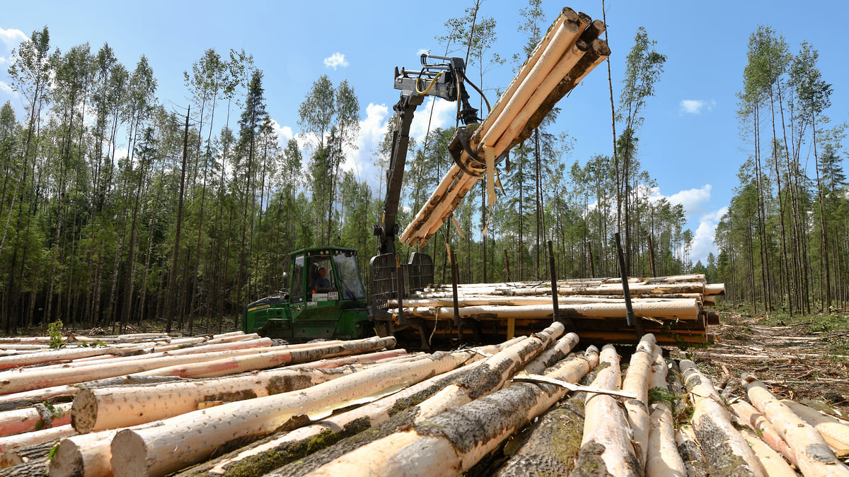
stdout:
{"type": "Polygon", "coordinates": [[[622,390],[637,395],[637,399],[625,400],[625,412],[633,435],[638,469],[645,469],[649,446],[649,380],[654,374],[655,342],[654,334],[643,335],[631,355],[631,362],[622,381],[622,390]]]}

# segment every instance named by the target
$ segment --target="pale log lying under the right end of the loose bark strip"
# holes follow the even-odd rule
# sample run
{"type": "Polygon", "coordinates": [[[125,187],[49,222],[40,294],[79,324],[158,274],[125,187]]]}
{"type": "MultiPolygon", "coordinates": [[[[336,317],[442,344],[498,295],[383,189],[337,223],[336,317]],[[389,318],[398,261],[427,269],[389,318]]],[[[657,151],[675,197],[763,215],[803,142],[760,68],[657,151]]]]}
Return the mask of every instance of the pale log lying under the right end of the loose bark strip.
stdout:
{"type": "MultiPolygon", "coordinates": [[[[599,356],[599,370],[593,387],[618,390],[621,383],[620,357],[613,345],[604,345],[599,356]]],[[[584,404],[585,420],[581,452],[572,477],[610,474],[613,476],[641,475],[632,444],[632,433],[625,412],[616,398],[588,393],[584,404]]]]}

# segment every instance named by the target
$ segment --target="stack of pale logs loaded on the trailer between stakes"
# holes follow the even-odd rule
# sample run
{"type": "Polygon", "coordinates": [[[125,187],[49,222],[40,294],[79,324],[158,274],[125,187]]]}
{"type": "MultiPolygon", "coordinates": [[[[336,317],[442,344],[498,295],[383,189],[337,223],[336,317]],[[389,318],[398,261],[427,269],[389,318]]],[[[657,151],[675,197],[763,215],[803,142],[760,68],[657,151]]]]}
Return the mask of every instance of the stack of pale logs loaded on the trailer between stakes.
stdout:
{"type": "MultiPolygon", "coordinates": [[[[629,278],[634,316],[644,331],[654,333],[661,344],[705,343],[706,325],[717,320],[706,311],[722,283],[706,283],[705,275],[660,278],[629,278]]],[[[626,317],[621,278],[571,279],[557,283],[559,318],[573,325],[586,342],[629,342],[639,339],[626,317]],[[568,321],[567,321],[568,320],[568,321]]],[[[474,320],[485,333],[512,338],[532,333],[554,319],[550,282],[476,283],[458,285],[458,319],[474,320]]],[[[397,306],[397,301],[390,301],[397,306]]],[[[402,302],[404,317],[419,317],[432,328],[452,328],[453,287],[433,286],[402,302]]],[[[399,315],[399,309],[390,309],[399,315]]],[[[716,322],[718,323],[718,322],[716,322]]],[[[469,327],[466,327],[469,328],[469,327]]],[[[454,329],[457,329],[456,327],[454,329]]]]}

